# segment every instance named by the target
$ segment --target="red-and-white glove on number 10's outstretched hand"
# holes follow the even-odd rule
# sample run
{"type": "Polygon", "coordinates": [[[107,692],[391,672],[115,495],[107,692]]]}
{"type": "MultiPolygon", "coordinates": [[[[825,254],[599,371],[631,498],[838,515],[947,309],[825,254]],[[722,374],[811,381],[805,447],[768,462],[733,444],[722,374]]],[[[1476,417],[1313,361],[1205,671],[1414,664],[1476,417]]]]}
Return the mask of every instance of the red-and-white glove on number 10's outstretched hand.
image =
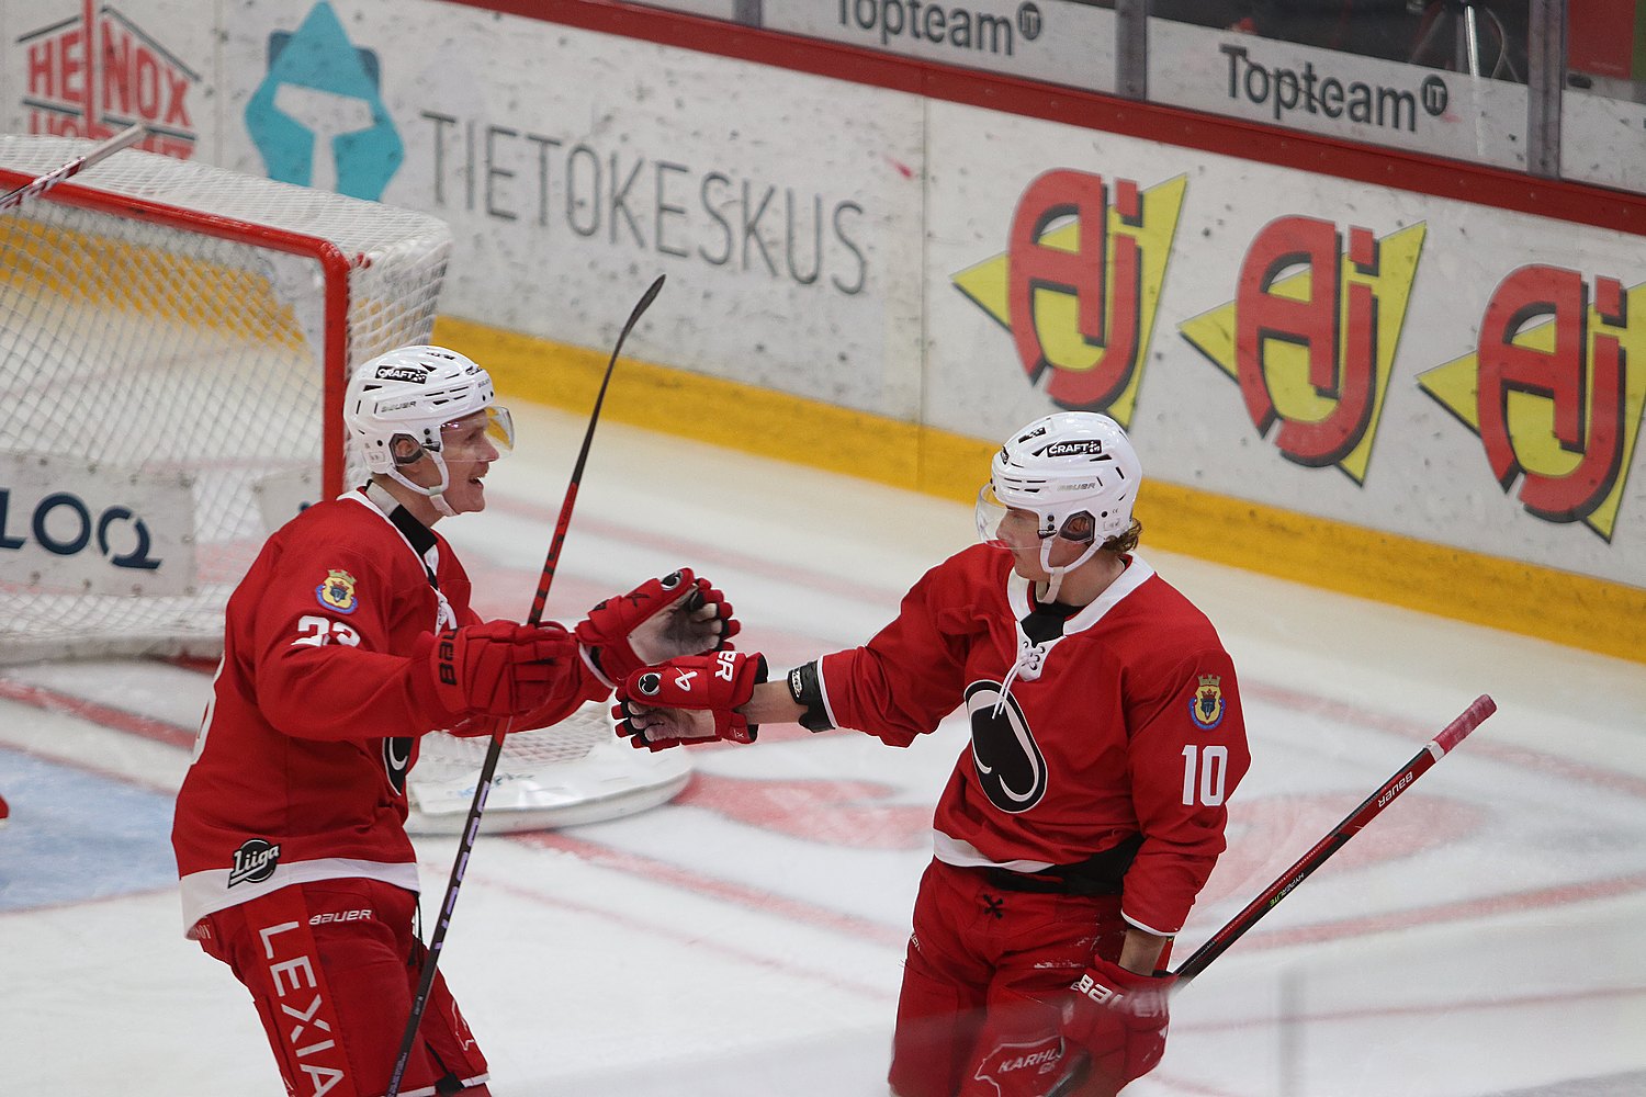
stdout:
{"type": "Polygon", "coordinates": [[[612,719],[619,735],[647,750],[711,738],[752,743],[760,725],[736,709],[764,681],[764,655],[690,655],[630,674],[617,686],[612,719]]]}

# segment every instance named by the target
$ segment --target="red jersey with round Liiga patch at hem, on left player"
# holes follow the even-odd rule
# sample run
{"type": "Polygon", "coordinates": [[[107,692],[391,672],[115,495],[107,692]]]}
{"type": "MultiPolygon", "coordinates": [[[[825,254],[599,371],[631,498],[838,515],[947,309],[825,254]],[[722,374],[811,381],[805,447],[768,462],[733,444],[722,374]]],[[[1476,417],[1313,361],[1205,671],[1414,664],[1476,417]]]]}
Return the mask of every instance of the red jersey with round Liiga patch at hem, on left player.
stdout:
{"type": "MultiPolygon", "coordinates": [[[[426,651],[435,630],[479,618],[444,538],[407,530],[416,548],[360,492],[318,503],[230,595],[171,827],[186,928],[288,883],[418,890],[407,771],[418,737],[456,717],[426,683],[426,651]]],[[[579,664],[532,725],[607,692],[579,664]]]]}

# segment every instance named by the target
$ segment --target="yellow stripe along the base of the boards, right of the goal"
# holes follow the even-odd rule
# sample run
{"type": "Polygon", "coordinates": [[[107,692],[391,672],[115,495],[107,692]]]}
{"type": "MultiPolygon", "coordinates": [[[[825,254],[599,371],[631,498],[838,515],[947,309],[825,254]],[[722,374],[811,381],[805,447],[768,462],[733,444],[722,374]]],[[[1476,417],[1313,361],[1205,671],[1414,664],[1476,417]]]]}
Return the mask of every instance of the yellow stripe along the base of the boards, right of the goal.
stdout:
{"type": "MultiPolygon", "coordinates": [[[[578,413],[609,359],[449,317],[435,342],[484,363],[510,398],[578,413]]],[[[602,414],[963,503],[997,446],[632,359],[612,375],[602,414]]],[[[1146,546],[1646,663],[1646,589],[1160,480],[1144,480],[1137,516],[1146,546]]]]}

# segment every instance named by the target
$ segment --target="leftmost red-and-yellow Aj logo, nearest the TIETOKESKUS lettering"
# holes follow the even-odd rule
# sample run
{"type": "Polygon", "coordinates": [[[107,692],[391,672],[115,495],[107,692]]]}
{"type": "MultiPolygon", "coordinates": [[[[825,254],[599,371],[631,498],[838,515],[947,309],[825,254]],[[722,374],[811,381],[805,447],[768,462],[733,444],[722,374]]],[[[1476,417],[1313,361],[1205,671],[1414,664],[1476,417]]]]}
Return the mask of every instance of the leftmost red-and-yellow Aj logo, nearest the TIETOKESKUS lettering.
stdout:
{"type": "Polygon", "coordinates": [[[1017,199],[1006,253],[953,276],[1057,406],[1131,424],[1185,187],[1049,171],[1017,199]]]}

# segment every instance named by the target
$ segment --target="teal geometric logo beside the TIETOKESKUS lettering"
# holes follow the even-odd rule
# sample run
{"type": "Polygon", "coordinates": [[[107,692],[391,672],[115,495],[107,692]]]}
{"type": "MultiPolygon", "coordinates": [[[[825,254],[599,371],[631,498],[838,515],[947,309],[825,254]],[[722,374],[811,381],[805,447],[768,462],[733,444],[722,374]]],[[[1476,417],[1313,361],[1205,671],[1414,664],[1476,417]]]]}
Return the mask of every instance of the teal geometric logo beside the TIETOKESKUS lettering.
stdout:
{"type": "Polygon", "coordinates": [[[377,54],[357,49],[324,0],[296,33],[268,36],[268,76],[245,128],[270,179],[377,201],[405,160],[384,109],[377,54]]]}

